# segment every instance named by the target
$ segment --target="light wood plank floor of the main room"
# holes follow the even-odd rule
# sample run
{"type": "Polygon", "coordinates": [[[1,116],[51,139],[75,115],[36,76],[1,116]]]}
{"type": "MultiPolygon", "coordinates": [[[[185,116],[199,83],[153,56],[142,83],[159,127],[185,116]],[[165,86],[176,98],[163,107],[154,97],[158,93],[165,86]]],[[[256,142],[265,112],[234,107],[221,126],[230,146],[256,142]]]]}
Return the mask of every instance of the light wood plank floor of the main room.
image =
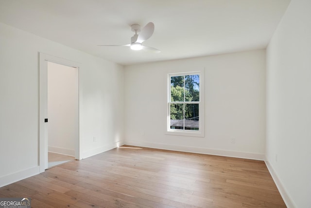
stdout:
{"type": "Polygon", "coordinates": [[[30,197],[34,208],[286,207],[263,161],[148,148],[73,160],[0,197],[30,197]]]}

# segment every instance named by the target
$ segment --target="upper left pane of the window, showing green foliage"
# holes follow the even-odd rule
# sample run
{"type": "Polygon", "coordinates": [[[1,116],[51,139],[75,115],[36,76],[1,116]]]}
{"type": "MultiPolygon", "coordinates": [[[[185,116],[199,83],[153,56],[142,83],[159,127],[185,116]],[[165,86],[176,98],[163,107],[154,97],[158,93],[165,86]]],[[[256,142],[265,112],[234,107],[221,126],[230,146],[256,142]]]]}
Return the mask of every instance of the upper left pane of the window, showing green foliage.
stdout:
{"type": "Polygon", "coordinates": [[[171,102],[184,101],[184,76],[171,76],[171,102]]]}

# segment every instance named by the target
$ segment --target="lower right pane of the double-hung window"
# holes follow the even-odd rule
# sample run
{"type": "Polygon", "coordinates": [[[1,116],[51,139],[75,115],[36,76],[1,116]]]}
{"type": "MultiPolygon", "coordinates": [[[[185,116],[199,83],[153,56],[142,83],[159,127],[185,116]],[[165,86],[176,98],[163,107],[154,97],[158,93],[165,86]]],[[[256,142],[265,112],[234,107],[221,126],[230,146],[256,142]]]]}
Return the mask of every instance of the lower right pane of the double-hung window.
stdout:
{"type": "Polygon", "coordinates": [[[199,130],[199,104],[185,104],[185,129],[199,130]]]}

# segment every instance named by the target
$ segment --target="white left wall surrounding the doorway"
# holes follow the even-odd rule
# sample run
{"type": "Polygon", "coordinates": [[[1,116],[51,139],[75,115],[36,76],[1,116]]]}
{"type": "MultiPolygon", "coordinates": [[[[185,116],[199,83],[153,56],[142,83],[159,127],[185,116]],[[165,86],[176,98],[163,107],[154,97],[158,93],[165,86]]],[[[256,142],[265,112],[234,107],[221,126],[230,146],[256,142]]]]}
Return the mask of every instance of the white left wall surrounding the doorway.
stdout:
{"type": "Polygon", "coordinates": [[[0,187],[39,172],[39,52],[81,63],[80,157],[122,143],[121,65],[0,23],[0,187]]]}

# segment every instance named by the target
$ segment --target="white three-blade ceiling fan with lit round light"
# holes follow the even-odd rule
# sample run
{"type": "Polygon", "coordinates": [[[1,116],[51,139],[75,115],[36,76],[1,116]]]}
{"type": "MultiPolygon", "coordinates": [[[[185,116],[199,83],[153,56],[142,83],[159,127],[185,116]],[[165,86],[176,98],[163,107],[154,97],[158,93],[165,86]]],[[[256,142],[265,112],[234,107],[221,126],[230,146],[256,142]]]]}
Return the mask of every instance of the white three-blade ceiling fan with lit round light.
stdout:
{"type": "Polygon", "coordinates": [[[131,28],[132,28],[132,31],[135,32],[135,35],[131,38],[130,44],[126,44],[126,45],[98,45],[98,46],[128,46],[128,47],[131,47],[131,49],[135,50],[135,51],[143,49],[145,51],[150,51],[150,52],[154,52],[154,53],[160,53],[161,52],[160,50],[158,50],[156,48],[142,45],[142,43],[145,40],[149,39],[155,31],[155,24],[153,22],[149,22],[148,24],[146,24],[146,26],[144,26],[141,31],[140,31],[140,25],[139,24],[133,24],[133,25],[131,25],[131,28]],[[139,33],[139,34],[137,34],[137,33],[139,33]]]}

